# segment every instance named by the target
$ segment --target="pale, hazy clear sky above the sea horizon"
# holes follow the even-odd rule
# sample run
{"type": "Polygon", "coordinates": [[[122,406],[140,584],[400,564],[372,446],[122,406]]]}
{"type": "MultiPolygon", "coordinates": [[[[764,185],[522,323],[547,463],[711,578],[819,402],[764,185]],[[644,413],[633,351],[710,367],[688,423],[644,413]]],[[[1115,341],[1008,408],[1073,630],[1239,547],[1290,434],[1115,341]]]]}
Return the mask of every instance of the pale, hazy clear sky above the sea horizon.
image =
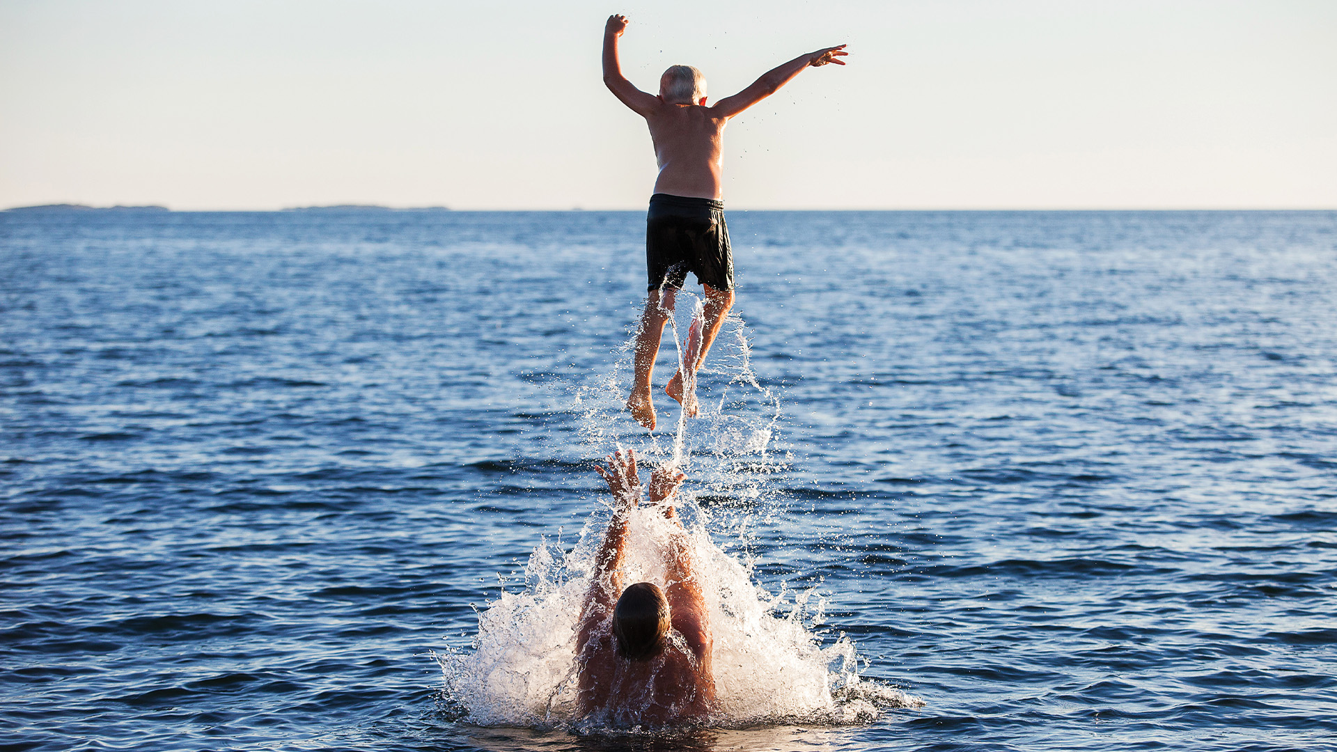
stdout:
{"type": "Polygon", "coordinates": [[[0,0],[0,207],[642,209],[670,64],[731,209],[1337,209],[1330,0],[0,0]]]}

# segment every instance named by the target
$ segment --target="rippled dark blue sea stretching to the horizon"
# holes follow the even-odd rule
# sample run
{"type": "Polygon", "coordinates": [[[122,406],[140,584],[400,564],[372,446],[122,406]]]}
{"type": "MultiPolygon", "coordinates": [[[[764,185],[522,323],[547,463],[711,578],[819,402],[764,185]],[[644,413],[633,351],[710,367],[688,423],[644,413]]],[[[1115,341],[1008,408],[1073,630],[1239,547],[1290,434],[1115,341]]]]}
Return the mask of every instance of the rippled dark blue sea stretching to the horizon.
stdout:
{"type": "Polygon", "coordinates": [[[643,214],[0,213],[0,749],[1334,748],[1337,213],[729,221],[706,415],[647,436],[643,214]],[[473,723],[433,653],[675,439],[923,707],[473,723]]]}

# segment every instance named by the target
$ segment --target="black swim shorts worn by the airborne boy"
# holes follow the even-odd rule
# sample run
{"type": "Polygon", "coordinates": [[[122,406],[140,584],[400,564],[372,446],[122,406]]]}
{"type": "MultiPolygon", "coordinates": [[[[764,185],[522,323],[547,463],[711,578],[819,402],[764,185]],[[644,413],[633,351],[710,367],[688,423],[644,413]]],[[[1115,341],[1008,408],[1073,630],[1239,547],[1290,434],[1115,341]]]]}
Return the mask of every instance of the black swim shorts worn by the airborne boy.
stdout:
{"type": "Polygon", "coordinates": [[[734,286],[725,202],[656,193],[646,215],[646,270],[650,289],[682,288],[687,272],[717,290],[734,286]]]}

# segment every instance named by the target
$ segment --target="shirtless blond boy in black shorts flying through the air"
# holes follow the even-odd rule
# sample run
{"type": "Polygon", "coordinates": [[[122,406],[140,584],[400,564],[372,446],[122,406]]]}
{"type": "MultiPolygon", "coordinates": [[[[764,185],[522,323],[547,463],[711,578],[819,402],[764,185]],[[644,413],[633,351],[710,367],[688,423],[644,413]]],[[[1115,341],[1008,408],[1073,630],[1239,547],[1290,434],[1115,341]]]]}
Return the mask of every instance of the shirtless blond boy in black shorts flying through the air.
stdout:
{"type": "MultiPolygon", "coordinates": [[[[650,197],[646,217],[646,266],[650,296],[636,333],[635,381],[627,408],[646,428],[655,427],[655,407],[650,396],[650,376],[659,355],[659,339],[673,312],[674,294],[682,289],[687,272],[705,288],[705,310],[687,335],[683,363],[694,377],[725,316],[734,305],[734,261],[729,249],[729,227],[721,201],[721,136],[730,118],[775,94],[804,68],[828,63],[844,66],[845,45],[800,55],[766,72],[747,88],[706,106],[706,79],[691,66],[673,66],[659,79],[659,95],[640,91],[618,62],[618,37],[627,28],[627,16],[608,16],[603,32],[603,83],[650,126],[659,177],[650,197]]],[[[685,389],[682,368],[668,380],[664,392],[682,403],[687,415],[697,415],[695,399],[685,389]],[[686,401],[685,401],[686,397],[686,401]]]]}

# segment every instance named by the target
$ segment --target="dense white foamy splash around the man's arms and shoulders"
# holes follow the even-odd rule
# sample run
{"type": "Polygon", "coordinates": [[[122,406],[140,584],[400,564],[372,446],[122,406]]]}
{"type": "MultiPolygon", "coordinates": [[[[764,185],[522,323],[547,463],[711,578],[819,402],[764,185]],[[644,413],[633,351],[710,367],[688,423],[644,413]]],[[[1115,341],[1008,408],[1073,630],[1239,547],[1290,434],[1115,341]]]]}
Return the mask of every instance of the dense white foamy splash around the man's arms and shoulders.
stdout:
{"type": "MultiPolygon", "coordinates": [[[[529,557],[525,587],[503,593],[479,613],[468,652],[439,656],[447,694],[480,725],[568,727],[575,717],[575,628],[608,511],[591,515],[571,551],[544,541],[529,557]]],[[[631,515],[624,581],[664,578],[670,525],[652,507],[631,515]]],[[[813,629],[824,601],[812,590],[770,594],[751,571],[689,526],[693,555],[711,605],[715,689],[721,713],[711,725],[850,724],[882,708],[921,701],[862,678],[845,636],[822,645],[813,629]]]]}

